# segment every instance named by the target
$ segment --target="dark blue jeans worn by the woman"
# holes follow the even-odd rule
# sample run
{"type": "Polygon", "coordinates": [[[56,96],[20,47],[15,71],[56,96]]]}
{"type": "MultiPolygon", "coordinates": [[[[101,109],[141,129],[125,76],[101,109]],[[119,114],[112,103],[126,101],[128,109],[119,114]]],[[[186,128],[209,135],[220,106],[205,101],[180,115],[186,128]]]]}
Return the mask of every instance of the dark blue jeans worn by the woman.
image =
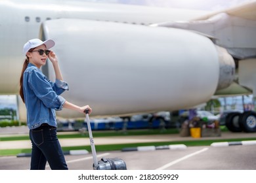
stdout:
{"type": "Polygon", "coordinates": [[[30,129],[32,141],[31,170],[44,170],[48,161],[52,170],[67,170],[56,127],[43,124],[36,129],[30,129]]]}

